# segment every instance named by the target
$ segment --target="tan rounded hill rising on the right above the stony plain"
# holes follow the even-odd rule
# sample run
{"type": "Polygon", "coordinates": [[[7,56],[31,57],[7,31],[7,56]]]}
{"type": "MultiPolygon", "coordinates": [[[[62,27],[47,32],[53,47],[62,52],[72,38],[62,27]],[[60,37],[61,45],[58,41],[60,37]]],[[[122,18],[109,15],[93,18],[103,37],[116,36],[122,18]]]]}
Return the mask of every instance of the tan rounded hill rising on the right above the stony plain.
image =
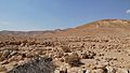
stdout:
{"type": "Polygon", "coordinates": [[[102,19],[82,26],[61,31],[60,35],[126,35],[130,34],[130,20],[102,19]]]}

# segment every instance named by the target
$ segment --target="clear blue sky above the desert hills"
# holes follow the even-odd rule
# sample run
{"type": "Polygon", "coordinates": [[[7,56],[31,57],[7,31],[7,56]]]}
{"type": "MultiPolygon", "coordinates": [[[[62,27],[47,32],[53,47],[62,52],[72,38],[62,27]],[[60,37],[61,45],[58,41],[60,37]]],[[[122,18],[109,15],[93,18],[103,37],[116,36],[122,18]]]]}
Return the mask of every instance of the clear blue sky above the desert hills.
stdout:
{"type": "Polygon", "coordinates": [[[108,18],[130,19],[130,0],[0,0],[0,30],[65,29],[108,18]]]}

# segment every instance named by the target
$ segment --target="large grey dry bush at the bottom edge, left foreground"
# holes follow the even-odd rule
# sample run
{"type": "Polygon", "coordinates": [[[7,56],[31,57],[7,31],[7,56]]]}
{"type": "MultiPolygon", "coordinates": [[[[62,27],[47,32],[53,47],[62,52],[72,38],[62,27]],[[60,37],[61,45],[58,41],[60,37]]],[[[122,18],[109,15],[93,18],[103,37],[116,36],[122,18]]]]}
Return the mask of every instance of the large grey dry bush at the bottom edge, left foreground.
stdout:
{"type": "Polygon", "coordinates": [[[8,73],[54,73],[52,58],[37,57],[25,64],[16,65],[8,73]]]}

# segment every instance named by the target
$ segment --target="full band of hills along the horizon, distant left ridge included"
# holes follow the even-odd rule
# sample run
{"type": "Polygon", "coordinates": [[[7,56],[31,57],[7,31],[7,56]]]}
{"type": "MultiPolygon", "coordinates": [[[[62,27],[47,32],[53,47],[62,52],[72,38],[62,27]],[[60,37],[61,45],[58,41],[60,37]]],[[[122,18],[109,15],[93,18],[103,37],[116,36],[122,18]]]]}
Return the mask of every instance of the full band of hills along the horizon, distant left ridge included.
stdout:
{"type": "Polygon", "coordinates": [[[0,31],[0,34],[43,36],[129,35],[130,20],[102,19],[76,28],[53,31],[0,31]]]}

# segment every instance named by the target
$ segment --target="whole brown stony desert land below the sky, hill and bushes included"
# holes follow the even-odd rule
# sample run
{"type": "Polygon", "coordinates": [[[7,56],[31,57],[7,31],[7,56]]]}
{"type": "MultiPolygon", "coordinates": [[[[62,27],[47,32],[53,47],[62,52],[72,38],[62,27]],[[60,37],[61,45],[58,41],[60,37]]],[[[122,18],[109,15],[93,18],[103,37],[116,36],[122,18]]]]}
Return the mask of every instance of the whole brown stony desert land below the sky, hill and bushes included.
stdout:
{"type": "Polygon", "coordinates": [[[130,73],[130,23],[110,20],[119,24],[115,27],[105,21],[105,27],[101,20],[102,27],[89,25],[87,30],[81,26],[46,33],[2,32],[0,73],[130,73]]]}

